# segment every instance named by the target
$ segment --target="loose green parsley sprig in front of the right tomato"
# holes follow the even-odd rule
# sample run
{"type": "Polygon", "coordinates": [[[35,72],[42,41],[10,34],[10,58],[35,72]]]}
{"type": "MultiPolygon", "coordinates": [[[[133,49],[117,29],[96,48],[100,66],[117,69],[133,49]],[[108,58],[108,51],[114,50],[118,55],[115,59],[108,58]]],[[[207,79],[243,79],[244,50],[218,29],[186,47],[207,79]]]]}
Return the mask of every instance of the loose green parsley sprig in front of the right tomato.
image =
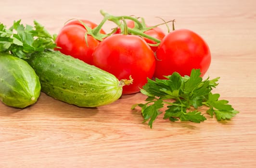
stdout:
{"type": "Polygon", "coordinates": [[[200,77],[199,69],[192,70],[190,76],[180,76],[174,72],[166,76],[167,79],[148,79],[148,83],[143,86],[141,93],[148,96],[146,103],[135,104],[141,107],[143,122],[149,120],[150,128],[154,120],[162,113],[165,107],[164,119],[170,121],[192,121],[201,122],[206,120],[204,115],[198,111],[199,107],[206,106],[206,111],[211,117],[215,115],[217,120],[229,120],[239,111],[229,105],[227,100],[219,100],[219,94],[211,93],[212,89],[218,85],[218,78],[203,80],[200,77]],[[192,109],[192,110],[191,110],[192,109]]]}

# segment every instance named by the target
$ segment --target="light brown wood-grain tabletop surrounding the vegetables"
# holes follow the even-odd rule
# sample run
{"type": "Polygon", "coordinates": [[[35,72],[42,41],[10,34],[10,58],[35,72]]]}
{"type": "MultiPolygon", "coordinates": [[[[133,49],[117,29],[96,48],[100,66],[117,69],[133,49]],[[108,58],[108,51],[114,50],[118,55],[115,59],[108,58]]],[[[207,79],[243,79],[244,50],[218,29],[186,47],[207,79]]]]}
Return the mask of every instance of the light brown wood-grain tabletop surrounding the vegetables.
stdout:
{"type": "MultiPolygon", "coordinates": [[[[0,103],[0,168],[256,168],[255,0],[1,0],[0,22],[37,20],[58,33],[71,18],[99,23],[114,15],[176,19],[207,41],[212,63],[205,76],[220,76],[214,90],[240,113],[230,121],[142,124],[141,94],[100,108],[78,108],[41,94],[26,109],[0,103]]],[[[105,25],[106,31],[112,25],[105,25]]],[[[162,27],[165,29],[165,27],[162,27]]],[[[204,109],[203,109],[204,110],[204,109]]]]}

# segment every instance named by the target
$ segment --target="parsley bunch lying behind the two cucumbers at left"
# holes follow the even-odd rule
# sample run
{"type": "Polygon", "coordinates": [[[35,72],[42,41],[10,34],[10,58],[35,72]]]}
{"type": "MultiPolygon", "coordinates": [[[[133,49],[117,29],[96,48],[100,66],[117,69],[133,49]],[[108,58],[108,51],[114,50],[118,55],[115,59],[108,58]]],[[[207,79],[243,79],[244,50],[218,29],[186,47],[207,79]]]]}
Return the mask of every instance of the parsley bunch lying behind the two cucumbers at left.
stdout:
{"type": "Polygon", "coordinates": [[[33,26],[25,26],[21,20],[14,21],[8,29],[6,25],[0,24],[0,52],[11,52],[14,56],[26,59],[31,53],[55,48],[55,37],[36,20],[33,26]]]}

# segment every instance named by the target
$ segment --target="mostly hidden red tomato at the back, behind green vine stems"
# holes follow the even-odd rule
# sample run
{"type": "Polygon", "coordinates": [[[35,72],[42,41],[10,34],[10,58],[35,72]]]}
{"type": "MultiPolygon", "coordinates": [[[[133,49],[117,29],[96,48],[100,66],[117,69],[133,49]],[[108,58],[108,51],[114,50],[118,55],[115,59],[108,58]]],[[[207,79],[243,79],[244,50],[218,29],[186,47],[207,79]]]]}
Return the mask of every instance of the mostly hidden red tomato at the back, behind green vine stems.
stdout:
{"type": "MultiPolygon", "coordinates": [[[[129,28],[133,28],[133,27],[135,26],[134,21],[131,21],[131,20],[128,21],[128,22],[127,22],[127,26],[128,26],[129,28]]],[[[149,27],[149,26],[148,26],[148,27],[149,27]]],[[[115,34],[120,34],[120,33],[121,33],[121,29],[120,29],[120,28],[117,28],[115,34]]],[[[164,31],[163,31],[160,27],[155,27],[155,28],[150,29],[150,30],[147,30],[147,31],[145,31],[145,32],[143,32],[143,33],[146,34],[146,35],[152,36],[152,37],[154,37],[154,38],[157,38],[157,39],[159,39],[159,40],[162,40],[162,39],[166,36],[166,34],[164,33],[164,31]]],[[[145,38],[145,37],[143,37],[143,39],[144,39],[147,43],[149,43],[149,44],[156,44],[156,42],[153,41],[153,40],[151,40],[151,39],[148,39],[148,38],[145,38]]],[[[154,52],[157,50],[157,46],[150,46],[150,48],[151,48],[154,52]]]]}

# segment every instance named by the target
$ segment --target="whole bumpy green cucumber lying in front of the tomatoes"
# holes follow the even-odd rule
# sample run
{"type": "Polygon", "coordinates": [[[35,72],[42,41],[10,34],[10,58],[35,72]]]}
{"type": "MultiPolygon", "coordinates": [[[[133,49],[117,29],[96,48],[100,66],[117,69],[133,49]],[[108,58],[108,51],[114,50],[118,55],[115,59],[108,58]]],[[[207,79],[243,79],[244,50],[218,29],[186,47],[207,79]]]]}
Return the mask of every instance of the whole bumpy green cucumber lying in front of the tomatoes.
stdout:
{"type": "Polygon", "coordinates": [[[39,76],[41,91],[65,103],[98,107],[122,95],[114,75],[60,51],[33,54],[27,61],[39,76]]]}

